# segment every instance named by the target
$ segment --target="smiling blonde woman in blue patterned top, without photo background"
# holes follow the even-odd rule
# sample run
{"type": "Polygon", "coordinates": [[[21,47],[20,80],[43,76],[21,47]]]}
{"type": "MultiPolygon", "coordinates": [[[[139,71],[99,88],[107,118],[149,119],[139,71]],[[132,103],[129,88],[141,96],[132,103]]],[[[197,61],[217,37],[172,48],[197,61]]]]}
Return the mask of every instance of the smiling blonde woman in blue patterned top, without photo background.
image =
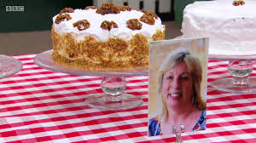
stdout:
{"type": "Polygon", "coordinates": [[[177,48],[157,71],[156,93],[161,102],[157,116],[149,118],[148,136],[172,134],[183,124],[185,132],[206,129],[206,101],[201,95],[202,66],[188,49],[177,48]]]}

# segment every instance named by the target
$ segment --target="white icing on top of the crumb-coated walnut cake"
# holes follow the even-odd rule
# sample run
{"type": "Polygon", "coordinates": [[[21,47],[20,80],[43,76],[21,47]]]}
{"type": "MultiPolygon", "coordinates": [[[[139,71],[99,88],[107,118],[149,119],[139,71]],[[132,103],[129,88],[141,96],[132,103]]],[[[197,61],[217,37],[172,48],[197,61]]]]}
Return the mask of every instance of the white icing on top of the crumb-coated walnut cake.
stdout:
{"type": "Polygon", "coordinates": [[[154,25],[148,25],[143,21],[140,21],[143,26],[141,30],[131,30],[126,26],[126,21],[130,19],[140,19],[143,15],[142,12],[137,10],[131,11],[120,11],[119,14],[96,14],[96,9],[75,9],[74,13],[67,13],[72,19],[61,21],[60,24],[55,24],[55,19],[59,15],[53,17],[53,25],[55,27],[55,32],[58,34],[65,34],[70,32],[73,37],[80,41],[83,40],[85,36],[95,37],[96,40],[105,41],[109,37],[122,37],[125,40],[131,39],[132,36],[137,33],[143,34],[148,39],[154,35],[157,30],[164,31],[164,26],[161,25],[160,18],[155,19],[154,25]],[[84,31],[79,31],[77,27],[73,27],[73,23],[78,20],[88,20],[90,22],[90,27],[84,31]],[[112,28],[110,31],[102,29],[102,21],[114,21],[119,27],[112,28]]]}

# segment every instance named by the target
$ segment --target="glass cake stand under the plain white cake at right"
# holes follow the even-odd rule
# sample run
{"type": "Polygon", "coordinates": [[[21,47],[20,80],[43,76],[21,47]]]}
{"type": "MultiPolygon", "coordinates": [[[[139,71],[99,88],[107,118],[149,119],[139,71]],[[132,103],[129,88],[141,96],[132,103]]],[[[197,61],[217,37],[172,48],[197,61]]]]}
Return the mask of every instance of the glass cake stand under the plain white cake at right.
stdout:
{"type": "Polygon", "coordinates": [[[214,89],[235,93],[256,93],[256,78],[249,77],[253,72],[253,61],[256,54],[252,55],[211,55],[209,60],[230,61],[228,71],[232,77],[225,77],[211,83],[214,89]]]}

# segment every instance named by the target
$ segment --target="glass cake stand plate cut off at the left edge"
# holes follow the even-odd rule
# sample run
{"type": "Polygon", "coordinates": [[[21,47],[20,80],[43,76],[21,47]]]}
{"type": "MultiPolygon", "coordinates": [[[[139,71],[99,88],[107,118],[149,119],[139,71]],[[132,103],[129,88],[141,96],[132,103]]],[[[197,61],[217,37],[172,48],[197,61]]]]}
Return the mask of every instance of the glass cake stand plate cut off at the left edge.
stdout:
{"type": "Polygon", "coordinates": [[[8,55],[0,54],[0,79],[9,77],[22,69],[22,63],[8,55]]]}

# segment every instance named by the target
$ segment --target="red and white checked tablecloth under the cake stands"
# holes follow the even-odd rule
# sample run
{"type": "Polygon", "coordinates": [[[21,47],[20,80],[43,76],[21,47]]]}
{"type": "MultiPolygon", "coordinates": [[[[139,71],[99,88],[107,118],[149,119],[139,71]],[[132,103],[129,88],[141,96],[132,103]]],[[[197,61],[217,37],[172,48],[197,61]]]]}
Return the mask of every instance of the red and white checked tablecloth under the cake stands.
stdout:
{"type": "MultiPolygon", "coordinates": [[[[51,72],[36,66],[36,54],[17,55],[23,69],[0,80],[0,142],[173,142],[174,136],[147,136],[148,76],[126,77],[125,93],[141,96],[142,106],[104,111],[84,104],[102,93],[102,77],[51,72]]],[[[230,77],[227,61],[209,60],[209,84],[230,77]]],[[[256,63],[253,63],[254,66],[256,63]]],[[[254,68],[254,71],[255,68],[254,68]]],[[[255,72],[253,75],[256,77],[255,72]]],[[[207,130],[183,134],[184,143],[255,143],[256,94],[208,87],[207,130]]]]}

